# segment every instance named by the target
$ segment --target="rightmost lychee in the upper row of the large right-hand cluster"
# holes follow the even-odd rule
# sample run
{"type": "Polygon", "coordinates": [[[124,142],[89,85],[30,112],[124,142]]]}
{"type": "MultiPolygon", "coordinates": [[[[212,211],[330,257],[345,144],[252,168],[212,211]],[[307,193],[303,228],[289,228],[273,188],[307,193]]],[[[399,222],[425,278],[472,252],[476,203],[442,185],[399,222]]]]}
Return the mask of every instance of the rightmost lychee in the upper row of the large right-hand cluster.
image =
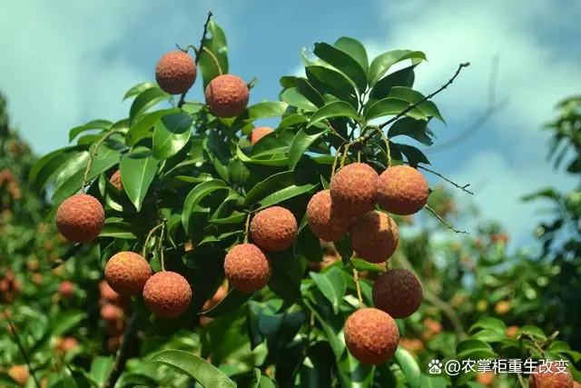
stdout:
{"type": "Polygon", "coordinates": [[[378,204],[391,214],[418,213],[428,202],[424,175],[409,165],[394,165],[379,175],[378,204]]]}

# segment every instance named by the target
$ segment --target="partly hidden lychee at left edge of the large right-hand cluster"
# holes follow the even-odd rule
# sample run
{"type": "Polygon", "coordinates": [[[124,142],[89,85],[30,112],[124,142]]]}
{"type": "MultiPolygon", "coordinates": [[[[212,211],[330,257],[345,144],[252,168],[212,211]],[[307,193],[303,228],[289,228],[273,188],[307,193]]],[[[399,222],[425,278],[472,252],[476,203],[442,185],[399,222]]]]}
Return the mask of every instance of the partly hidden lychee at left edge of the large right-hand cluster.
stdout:
{"type": "Polygon", "coordinates": [[[330,190],[322,190],[307,204],[307,221],[312,233],[321,240],[336,242],[349,232],[353,219],[341,214],[340,208],[330,199],[330,190]]]}

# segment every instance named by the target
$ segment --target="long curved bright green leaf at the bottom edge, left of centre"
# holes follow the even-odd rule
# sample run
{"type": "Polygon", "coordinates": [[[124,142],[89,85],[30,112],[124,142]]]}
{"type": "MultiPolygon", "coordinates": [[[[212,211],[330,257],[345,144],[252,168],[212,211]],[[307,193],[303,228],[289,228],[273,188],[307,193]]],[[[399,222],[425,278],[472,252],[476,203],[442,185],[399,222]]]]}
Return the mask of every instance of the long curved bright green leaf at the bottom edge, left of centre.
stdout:
{"type": "Polygon", "coordinates": [[[152,363],[162,363],[178,372],[188,374],[204,388],[236,388],[236,383],[231,381],[220,369],[191,352],[166,350],[153,355],[151,361],[152,363]]]}

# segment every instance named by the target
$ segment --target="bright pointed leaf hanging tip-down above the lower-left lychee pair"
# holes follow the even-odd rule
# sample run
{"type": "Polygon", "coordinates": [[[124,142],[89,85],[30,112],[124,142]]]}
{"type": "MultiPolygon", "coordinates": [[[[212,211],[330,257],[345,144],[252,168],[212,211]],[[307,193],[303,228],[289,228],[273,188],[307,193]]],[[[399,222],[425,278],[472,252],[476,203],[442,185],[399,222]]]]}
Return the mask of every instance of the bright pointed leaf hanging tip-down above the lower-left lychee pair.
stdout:
{"type": "Polygon", "coordinates": [[[129,196],[138,212],[142,209],[143,198],[153,182],[160,161],[153,157],[146,147],[135,148],[131,153],[124,154],[121,159],[120,171],[123,190],[129,196]]]}

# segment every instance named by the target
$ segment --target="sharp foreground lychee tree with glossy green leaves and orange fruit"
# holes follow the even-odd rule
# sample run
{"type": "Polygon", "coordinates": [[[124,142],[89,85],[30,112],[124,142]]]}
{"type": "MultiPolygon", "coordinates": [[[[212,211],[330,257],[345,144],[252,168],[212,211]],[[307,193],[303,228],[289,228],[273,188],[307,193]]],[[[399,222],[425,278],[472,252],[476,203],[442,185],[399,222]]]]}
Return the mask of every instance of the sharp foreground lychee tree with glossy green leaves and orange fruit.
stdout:
{"type": "MultiPolygon", "coordinates": [[[[280,101],[252,104],[256,80],[231,72],[211,16],[197,47],[162,55],[156,82],[127,91],[128,117],[73,128],[75,143],[30,173],[52,187],[47,219],[67,256],[94,247],[103,287],[132,299],[97,385],[458,386],[399,346],[422,302],[409,262],[392,263],[399,224],[425,210],[458,231],[427,204],[426,155],[392,139],[431,144],[428,124],[444,122],[431,100],[468,64],[422,95],[424,53],[370,60],[340,37],[303,53],[306,77],[281,77],[280,101]],[[200,84],[204,101],[189,101],[200,84]],[[255,124],[277,117],[276,128],[255,124]],[[308,271],[327,245],[340,260],[308,271]]],[[[68,378],[94,383],[85,374],[68,378]]]]}

